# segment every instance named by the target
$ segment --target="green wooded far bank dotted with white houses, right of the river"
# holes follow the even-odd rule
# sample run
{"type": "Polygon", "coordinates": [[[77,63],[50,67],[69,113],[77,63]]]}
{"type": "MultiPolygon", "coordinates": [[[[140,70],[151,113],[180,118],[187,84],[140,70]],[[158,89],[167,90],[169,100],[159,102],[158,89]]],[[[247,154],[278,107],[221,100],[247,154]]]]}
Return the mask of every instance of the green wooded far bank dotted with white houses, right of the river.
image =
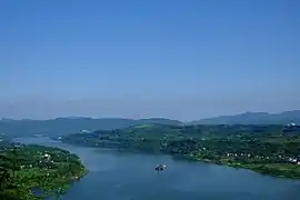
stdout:
{"type": "Polygon", "coordinates": [[[143,124],[62,138],[80,146],[182,154],[261,173],[300,178],[300,127],[143,124]]]}

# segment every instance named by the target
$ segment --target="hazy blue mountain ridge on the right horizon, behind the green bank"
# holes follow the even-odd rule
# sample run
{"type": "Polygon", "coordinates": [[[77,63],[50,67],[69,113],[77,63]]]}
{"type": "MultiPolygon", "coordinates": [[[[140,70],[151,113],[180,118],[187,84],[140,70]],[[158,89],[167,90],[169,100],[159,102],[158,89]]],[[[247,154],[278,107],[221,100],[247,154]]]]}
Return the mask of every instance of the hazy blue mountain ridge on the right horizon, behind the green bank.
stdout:
{"type": "Polygon", "coordinates": [[[281,113],[244,112],[236,116],[220,116],[216,118],[191,121],[189,124],[287,124],[296,122],[300,124],[300,110],[281,113]]]}

